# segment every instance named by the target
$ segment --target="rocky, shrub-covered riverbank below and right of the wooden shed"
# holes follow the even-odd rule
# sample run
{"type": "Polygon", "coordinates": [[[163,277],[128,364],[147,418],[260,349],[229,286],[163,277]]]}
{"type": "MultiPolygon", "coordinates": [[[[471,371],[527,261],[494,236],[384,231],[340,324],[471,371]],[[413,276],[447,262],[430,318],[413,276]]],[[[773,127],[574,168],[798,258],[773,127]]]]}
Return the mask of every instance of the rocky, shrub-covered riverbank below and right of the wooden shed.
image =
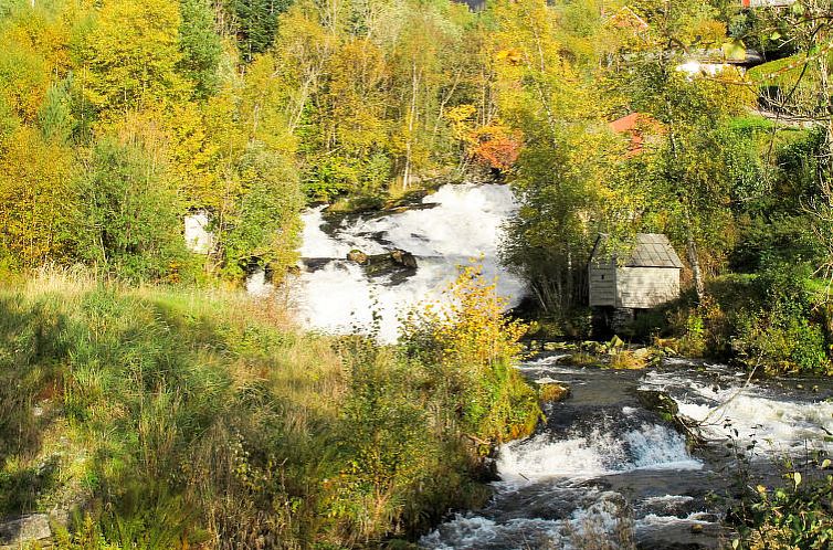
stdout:
{"type": "Polygon", "coordinates": [[[777,265],[709,279],[703,300],[688,289],[676,300],[640,311],[615,334],[595,326],[589,308],[550,318],[527,303],[514,314],[531,325],[527,342],[533,351],[546,341],[566,342],[579,361],[614,359],[626,368],[677,356],[731,363],[758,376],[823,376],[833,372],[827,290],[804,267],[777,265]]]}

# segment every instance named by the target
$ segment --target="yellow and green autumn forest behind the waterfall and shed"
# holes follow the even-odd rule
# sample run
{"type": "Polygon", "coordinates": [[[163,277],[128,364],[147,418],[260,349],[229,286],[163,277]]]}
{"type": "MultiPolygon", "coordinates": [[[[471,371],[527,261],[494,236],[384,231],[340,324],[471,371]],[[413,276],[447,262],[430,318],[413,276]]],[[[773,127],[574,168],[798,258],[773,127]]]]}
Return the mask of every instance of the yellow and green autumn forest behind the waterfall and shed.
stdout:
{"type": "Polygon", "coordinates": [[[801,341],[769,362],[824,370],[829,18],[816,2],[4,2],[0,265],[280,278],[308,201],[496,178],[523,203],[504,261],[544,317],[581,313],[599,233],[666,233],[699,305],[676,332],[750,357],[801,341]],[[194,212],[208,257],[182,241],[194,212]]]}

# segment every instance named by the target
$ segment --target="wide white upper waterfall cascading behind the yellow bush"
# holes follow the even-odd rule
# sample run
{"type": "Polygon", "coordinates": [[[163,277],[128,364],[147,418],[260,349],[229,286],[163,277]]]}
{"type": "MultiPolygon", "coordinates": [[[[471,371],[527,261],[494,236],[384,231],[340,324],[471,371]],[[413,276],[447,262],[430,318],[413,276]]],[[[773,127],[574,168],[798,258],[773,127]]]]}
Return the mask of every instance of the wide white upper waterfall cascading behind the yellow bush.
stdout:
{"type": "Polygon", "coordinates": [[[297,317],[307,328],[344,334],[368,329],[379,316],[379,337],[394,341],[398,318],[422,302],[442,302],[442,292],[457,266],[474,261],[487,279],[497,277],[497,292],[516,305],[524,284],[498,264],[502,228],[517,210],[506,186],[447,184],[423,199],[433,208],[405,210],[377,218],[350,218],[333,235],[324,225],[323,208],[304,214],[300,255],[328,258],[323,267],[299,276],[297,317]],[[393,284],[390,276],[371,278],[346,261],[358,248],[382,254],[401,248],[416,256],[416,273],[393,284]]]}

